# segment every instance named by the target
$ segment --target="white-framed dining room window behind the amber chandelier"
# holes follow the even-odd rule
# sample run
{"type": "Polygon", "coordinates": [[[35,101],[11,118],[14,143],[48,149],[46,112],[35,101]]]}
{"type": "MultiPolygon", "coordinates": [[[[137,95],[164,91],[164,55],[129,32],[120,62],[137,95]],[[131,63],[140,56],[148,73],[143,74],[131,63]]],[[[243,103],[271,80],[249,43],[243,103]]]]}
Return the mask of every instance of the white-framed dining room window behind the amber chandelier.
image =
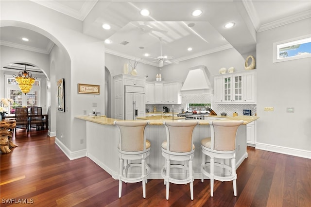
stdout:
{"type": "Polygon", "coordinates": [[[18,87],[15,78],[11,75],[5,76],[6,97],[13,99],[14,103],[10,105],[8,114],[15,114],[16,107],[41,106],[41,79],[37,78],[29,93],[24,94],[18,87]]]}

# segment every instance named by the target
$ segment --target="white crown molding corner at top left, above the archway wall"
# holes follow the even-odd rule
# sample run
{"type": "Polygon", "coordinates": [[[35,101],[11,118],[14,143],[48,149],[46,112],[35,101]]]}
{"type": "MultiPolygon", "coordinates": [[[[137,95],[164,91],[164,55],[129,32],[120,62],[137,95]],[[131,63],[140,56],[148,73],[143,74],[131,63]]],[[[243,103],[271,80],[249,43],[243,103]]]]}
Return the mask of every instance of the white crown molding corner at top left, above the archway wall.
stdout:
{"type": "Polygon", "coordinates": [[[40,4],[41,6],[45,6],[47,8],[50,8],[52,10],[55,10],[57,12],[63,13],[65,15],[68,15],[69,17],[73,17],[76,19],[79,19],[83,21],[88,13],[92,10],[92,8],[95,6],[98,0],[86,0],[81,7],[81,9],[75,10],[68,6],[65,6],[64,4],[61,4],[54,0],[31,0],[37,4],[40,4]]]}

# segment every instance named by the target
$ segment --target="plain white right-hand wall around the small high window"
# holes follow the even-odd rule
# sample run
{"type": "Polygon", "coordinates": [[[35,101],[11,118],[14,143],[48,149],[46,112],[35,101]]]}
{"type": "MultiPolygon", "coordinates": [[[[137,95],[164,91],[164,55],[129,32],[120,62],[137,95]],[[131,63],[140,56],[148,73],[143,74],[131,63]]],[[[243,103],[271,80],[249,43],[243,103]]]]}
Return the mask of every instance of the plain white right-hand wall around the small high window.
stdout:
{"type": "Polygon", "coordinates": [[[259,148],[311,158],[311,58],[272,62],[274,42],[310,33],[311,18],[258,34],[259,148]],[[274,111],[265,112],[264,107],[274,111]],[[294,113],[286,113],[286,107],[294,107],[294,113]]]}

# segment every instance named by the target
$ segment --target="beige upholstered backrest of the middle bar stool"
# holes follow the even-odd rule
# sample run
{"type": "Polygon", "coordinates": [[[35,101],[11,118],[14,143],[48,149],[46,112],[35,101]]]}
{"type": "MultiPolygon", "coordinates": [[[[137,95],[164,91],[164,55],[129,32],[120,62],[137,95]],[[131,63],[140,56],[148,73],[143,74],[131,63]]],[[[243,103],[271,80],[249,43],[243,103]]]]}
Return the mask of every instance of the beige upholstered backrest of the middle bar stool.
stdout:
{"type": "Polygon", "coordinates": [[[167,151],[189,153],[193,149],[192,132],[197,121],[163,122],[166,129],[167,151]]]}

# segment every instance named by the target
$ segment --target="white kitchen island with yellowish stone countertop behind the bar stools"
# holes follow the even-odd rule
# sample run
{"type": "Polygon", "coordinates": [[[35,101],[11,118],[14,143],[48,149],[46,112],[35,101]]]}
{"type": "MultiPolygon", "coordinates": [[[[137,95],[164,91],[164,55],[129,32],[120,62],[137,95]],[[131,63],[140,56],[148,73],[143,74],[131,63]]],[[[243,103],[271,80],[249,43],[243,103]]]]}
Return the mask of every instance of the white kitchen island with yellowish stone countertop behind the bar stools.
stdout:
{"type": "MultiPolygon", "coordinates": [[[[242,117],[240,117],[242,118],[242,117]]],[[[119,169],[119,155],[118,155],[118,129],[113,125],[113,121],[116,119],[106,118],[104,116],[89,117],[78,116],[76,119],[86,121],[86,156],[93,160],[96,164],[102,167],[107,173],[109,173],[114,179],[118,179],[119,169]]],[[[253,120],[258,117],[253,118],[253,120]]],[[[242,120],[242,119],[241,119],[242,120]]],[[[126,121],[126,120],[117,120],[126,121]]],[[[137,120],[146,121],[146,120],[137,120]]],[[[166,140],[166,131],[163,126],[164,120],[148,120],[149,125],[146,126],[146,138],[151,142],[150,155],[147,159],[147,163],[151,168],[149,178],[162,179],[161,168],[164,165],[164,158],[161,155],[161,143],[166,140]]],[[[172,121],[172,120],[168,120],[172,121]]],[[[185,121],[184,119],[174,120],[174,122],[185,121]]],[[[195,120],[187,120],[195,121],[195,120]]],[[[194,178],[201,179],[201,139],[210,136],[210,127],[208,120],[200,120],[199,124],[193,131],[193,144],[195,145],[195,153],[193,160],[194,178]]],[[[244,124],[241,125],[237,132],[236,141],[236,167],[239,167],[242,161],[247,157],[246,152],[246,123],[250,120],[244,120],[244,124]]],[[[133,169],[129,171],[131,174],[137,174],[139,169],[133,169]],[[137,170],[137,171],[136,171],[137,170]]],[[[177,176],[180,172],[174,172],[177,176]]],[[[180,174],[181,175],[181,174],[180,174]]]]}

